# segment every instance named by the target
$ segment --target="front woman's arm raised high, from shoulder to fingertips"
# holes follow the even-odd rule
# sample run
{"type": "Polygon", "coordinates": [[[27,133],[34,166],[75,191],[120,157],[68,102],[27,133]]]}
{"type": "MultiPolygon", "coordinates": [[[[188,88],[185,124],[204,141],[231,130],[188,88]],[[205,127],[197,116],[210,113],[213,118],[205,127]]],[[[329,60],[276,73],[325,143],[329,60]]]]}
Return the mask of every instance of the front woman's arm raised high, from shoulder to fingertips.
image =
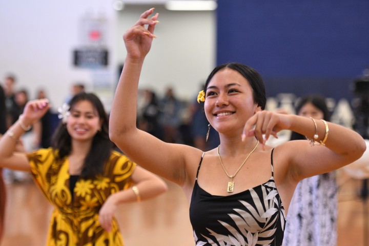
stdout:
{"type": "Polygon", "coordinates": [[[149,18],[147,10],[138,22],[124,34],[127,57],[115,91],[109,119],[110,139],[139,165],[179,185],[186,179],[186,160],[195,148],[167,144],[136,128],[138,81],[153,38],[158,15],[149,18]],[[148,25],[146,29],[144,26],[148,25]],[[189,154],[189,155],[188,155],[189,154]]]}

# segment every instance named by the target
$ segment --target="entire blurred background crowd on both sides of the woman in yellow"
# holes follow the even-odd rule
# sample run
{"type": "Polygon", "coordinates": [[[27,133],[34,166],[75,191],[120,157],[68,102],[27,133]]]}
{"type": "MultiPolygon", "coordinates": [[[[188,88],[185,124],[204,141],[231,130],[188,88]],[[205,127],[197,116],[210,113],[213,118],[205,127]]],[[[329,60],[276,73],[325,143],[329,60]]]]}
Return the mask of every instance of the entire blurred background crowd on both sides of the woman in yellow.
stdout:
{"type": "MultiPolygon", "coordinates": [[[[47,90],[39,88],[34,96],[30,95],[28,88],[18,88],[16,76],[6,75],[1,81],[5,96],[5,107],[1,109],[5,114],[2,120],[3,129],[0,134],[14,124],[28,100],[48,98],[47,90]]],[[[70,88],[70,94],[65,96],[65,103],[79,93],[86,91],[84,83],[74,83],[70,88]]],[[[162,96],[151,89],[139,91],[137,105],[138,128],[146,131],[163,141],[177,144],[191,145],[201,150],[210,150],[219,145],[218,134],[212,134],[210,129],[209,139],[206,140],[208,132],[208,121],[203,111],[203,104],[198,104],[196,95],[193,101],[180,100],[175,95],[175,89],[168,87],[162,96]]],[[[50,98],[48,98],[50,99],[50,98]]],[[[107,112],[109,113],[109,112],[107,112]]],[[[49,148],[50,141],[58,125],[58,113],[52,109],[32,128],[22,136],[22,143],[26,152],[39,148],[49,148]]],[[[26,172],[3,170],[6,183],[29,181],[30,175],[26,172]]]]}

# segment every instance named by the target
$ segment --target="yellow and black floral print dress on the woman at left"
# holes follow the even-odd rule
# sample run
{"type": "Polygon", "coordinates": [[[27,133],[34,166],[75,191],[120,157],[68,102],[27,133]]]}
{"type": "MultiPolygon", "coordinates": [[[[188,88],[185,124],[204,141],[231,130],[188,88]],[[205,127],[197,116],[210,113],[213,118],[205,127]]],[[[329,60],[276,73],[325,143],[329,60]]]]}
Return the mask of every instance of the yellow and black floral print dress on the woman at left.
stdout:
{"type": "Polygon", "coordinates": [[[54,205],[47,238],[48,246],[123,245],[118,223],[113,219],[110,232],[99,223],[98,213],[113,193],[132,186],[136,164],[116,151],[105,165],[104,175],[79,178],[70,191],[69,161],[56,161],[51,148],[28,154],[37,186],[54,205]]]}

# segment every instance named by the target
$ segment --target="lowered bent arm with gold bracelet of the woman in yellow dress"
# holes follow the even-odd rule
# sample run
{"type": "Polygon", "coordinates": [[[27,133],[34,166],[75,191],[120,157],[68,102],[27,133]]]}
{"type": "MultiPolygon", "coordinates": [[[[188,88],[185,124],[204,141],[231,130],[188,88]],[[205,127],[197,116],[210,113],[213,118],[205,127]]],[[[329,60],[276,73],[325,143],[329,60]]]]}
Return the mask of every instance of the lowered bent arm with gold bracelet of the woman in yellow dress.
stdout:
{"type": "Polygon", "coordinates": [[[148,200],[168,190],[164,180],[139,166],[136,166],[131,177],[134,186],[110,195],[100,209],[100,224],[108,232],[111,230],[112,219],[119,204],[148,200]]]}

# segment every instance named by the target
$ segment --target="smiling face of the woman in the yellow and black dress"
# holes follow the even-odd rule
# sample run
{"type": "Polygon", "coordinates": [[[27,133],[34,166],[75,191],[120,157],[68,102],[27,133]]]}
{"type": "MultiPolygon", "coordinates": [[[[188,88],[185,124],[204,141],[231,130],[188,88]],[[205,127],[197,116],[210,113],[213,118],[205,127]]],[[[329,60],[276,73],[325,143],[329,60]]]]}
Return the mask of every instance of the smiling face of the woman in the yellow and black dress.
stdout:
{"type": "Polygon", "coordinates": [[[72,140],[92,141],[100,128],[100,117],[90,101],[80,100],[72,105],[67,120],[67,130],[72,140]]]}

